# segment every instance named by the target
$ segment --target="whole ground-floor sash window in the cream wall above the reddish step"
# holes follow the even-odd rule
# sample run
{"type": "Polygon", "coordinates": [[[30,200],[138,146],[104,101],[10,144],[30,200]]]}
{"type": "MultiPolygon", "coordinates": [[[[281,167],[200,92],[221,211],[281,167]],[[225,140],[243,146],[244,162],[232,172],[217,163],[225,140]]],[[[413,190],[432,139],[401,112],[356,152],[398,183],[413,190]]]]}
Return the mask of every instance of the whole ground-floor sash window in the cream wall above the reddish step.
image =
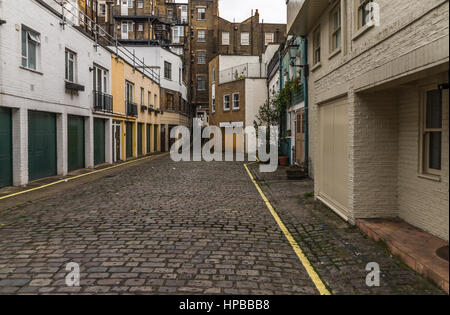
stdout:
{"type": "Polygon", "coordinates": [[[442,169],[442,91],[424,95],[421,118],[422,173],[440,175],[442,169]]]}

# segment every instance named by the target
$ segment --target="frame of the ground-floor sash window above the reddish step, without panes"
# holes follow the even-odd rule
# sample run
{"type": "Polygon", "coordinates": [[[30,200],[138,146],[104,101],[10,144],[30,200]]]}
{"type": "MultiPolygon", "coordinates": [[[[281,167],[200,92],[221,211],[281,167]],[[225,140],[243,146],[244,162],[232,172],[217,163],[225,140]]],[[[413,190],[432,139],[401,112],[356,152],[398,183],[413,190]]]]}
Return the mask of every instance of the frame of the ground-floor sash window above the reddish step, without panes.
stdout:
{"type": "Polygon", "coordinates": [[[444,98],[443,91],[436,88],[436,85],[426,86],[421,91],[420,97],[420,110],[419,110],[419,176],[425,176],[427,178],[440,180],[442,175],[442,153],[443,153],[443,135],[444,135],[444,98]],[[440,105],[441,105],[441,127],[440,128],[428,128],[427,127],[427,94],[428,92],[439,91],[440,92],[440,105]],[[433,132],[439,132],[441,134],[441,169],[430,168],[430,141],[429,135],[433,132]]]}

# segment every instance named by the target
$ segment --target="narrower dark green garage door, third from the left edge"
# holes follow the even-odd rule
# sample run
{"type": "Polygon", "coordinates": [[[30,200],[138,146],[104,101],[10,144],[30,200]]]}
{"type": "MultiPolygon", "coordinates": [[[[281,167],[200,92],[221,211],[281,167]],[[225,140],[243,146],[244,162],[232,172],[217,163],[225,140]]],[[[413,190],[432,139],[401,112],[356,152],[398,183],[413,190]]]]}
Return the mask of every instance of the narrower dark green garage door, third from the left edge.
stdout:
{"type": "Polygon", "coordinates": [[[69,172],[84,168],[84,117],[71,116],[67,119],[67,157],[69,172]]]}

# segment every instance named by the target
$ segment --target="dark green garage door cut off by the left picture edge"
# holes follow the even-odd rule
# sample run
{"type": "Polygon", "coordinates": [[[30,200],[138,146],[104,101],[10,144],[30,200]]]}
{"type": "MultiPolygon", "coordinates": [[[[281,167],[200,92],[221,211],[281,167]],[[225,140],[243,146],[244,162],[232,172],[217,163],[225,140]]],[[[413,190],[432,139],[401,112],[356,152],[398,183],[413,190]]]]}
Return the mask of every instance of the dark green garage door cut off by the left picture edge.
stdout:
{"type": "Polygon", "coordinates": [[[11,110],[0,107],[0,187],[12,185],[11,110]]]}

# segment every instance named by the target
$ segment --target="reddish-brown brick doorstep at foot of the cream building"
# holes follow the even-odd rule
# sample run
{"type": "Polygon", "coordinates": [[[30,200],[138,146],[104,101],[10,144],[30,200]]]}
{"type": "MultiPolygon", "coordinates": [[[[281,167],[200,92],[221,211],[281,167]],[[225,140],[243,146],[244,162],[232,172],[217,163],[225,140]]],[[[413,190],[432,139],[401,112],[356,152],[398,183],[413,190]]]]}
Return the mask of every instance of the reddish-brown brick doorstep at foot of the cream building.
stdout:
{"type": "Polygon", "coordinates": [[[448,246],[448,242],[399,219],[358,219],[356,225],[370,238],[386,243],[408,267],[449,293],[449,263],[436,255],[436,250],[448,246]]]}

